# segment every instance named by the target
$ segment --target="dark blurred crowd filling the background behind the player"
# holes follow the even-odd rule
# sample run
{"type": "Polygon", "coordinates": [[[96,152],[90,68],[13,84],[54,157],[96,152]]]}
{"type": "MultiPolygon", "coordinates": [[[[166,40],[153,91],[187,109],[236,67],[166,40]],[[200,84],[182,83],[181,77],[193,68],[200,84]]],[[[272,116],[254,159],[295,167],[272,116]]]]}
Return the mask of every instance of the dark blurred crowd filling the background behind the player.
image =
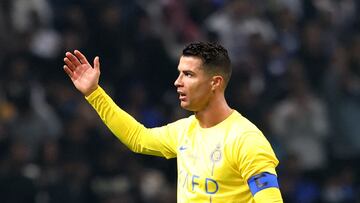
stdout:
{"type": "Polygon", "coordinates": [[[176,202],[176,160],[134,154],[64,73],[100,84],[147,127],[190,115],[173,82],[191,41],[233,62],[226,96],[280,160],[285,202],[360,202],[357,0],[1,0],[0,202],[176,202]]]}

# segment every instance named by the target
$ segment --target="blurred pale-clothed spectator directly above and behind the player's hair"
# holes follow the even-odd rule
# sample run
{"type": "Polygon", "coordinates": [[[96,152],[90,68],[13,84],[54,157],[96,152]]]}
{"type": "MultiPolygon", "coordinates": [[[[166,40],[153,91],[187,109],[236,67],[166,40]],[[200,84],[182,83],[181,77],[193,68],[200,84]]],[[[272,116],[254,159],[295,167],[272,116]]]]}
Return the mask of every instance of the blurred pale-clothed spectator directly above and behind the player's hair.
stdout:
{"type": "Polygon", "coordinates": [[[264,18],[258,5],[248,0],[230,1],[224,8],[210,15],[205,26],[209,31],[217,33],[235,65],[246,59],[247,42],[251,35],[258,34],[266,43],[276,37],[273,26],[264,18]]]}

